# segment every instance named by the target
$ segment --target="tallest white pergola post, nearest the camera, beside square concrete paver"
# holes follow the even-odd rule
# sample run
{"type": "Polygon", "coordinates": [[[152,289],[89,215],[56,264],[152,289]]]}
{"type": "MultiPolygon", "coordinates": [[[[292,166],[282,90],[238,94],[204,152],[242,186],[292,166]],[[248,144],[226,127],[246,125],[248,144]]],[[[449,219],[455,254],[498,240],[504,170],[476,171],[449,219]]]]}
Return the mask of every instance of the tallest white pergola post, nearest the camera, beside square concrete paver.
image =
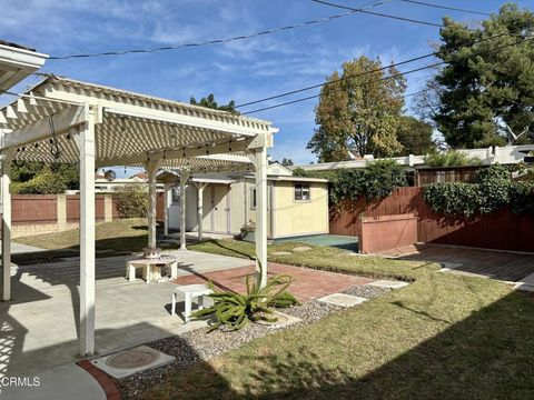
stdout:
{"type": "Polygon", "coordinates": [[[80,353],[95,353],[95,118],[86,106],[79,130],[80,153],[80,353]]]}

